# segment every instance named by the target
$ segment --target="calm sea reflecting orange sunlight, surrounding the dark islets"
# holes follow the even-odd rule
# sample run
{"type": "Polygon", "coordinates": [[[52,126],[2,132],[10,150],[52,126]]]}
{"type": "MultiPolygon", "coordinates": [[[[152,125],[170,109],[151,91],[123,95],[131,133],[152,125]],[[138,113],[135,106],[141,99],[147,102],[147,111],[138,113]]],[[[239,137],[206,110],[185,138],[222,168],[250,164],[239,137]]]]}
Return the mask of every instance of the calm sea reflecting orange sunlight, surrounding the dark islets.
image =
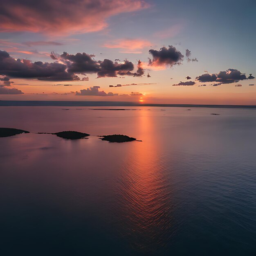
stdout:
{"type": "Polygon", "coordinates": [[[0,138],[0,255],[256,255],[255,109],[67,108],[0,127],[142,142],[0,138]]]}

